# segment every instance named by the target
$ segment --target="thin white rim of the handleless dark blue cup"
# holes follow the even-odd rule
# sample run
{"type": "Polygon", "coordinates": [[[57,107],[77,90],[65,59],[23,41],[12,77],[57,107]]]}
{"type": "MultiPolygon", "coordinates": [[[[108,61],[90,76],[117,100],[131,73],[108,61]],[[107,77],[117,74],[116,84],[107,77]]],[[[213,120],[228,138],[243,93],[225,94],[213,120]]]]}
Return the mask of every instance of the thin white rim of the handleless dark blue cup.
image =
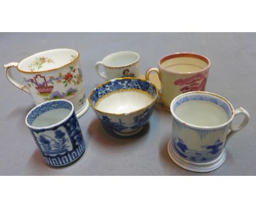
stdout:
{"type": "Polygon", "coordinates": [[[46,101],[46,102],[40,103],[38,106],[33,107],[33,108],[30,110],[30,112],[27,113],[26,118],[25,118],[25,122],[26,122],[26,125],[27,125],[30,129],[33,129],[33,130],[42,130],[42,129],[44,129],[44,130],[49,130],[49,129],[53,129],[53,128],[56,127],[56,126],[59,126],[59,125],[62,124],[62,123],[65,123],[65,121],[67,121],[69,118],[71,118],[73,112],[74,112],[74,105],[73,105],[72,102],[70,102],[70,101],[68,101],[68,100],[64,100],[64,99],[50,100],[50,101],[46,101]],[[53,125],[50,125],[50,126],[36,127],[36,126],[31,126],[30,124],[28,124],[28,122],[27,122],[27,117],[28,117],[28,115],[31,114],[32,111],[34,111],[36,108],[38,108],[38,107],[40,107],[40,106],[45,105],[45,103],[55,102],[55,101],[64,101],[64,102],[68,102],[69,104],[71,104],[71,106],[72,106],[71,112],[67,115],[66,118],[64,118],[64,119],[62,119],[61,121],[59,121],[58,123],[53,124],[53,125]]]}

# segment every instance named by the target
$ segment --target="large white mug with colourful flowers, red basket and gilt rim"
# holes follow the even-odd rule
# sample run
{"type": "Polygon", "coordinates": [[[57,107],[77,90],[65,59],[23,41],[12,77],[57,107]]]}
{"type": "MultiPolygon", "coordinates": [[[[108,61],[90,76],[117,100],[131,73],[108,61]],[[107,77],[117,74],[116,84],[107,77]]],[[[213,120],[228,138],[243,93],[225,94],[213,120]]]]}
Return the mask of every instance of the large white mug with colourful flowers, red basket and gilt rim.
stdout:
{"type": "Polygon", "coordinates": [[[54,99],[65,99],[73,103],[77,117],[89,107],[85,97],[79,52],[60,48],[36,53],[20,63],[4,65],[9,81],[30,94],[36,105],[54,99]],[[11,76],[11,67],[21,73],[24,84],[11,76]]]}

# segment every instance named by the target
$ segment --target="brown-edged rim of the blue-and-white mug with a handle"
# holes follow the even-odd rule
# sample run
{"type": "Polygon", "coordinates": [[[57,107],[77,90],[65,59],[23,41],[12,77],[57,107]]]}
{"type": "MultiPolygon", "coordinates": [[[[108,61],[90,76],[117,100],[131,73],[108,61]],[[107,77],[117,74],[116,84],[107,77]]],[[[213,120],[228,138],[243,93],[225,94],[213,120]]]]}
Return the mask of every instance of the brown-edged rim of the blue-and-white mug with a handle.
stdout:
{"type": "Polygon", "coordinates": [[[183,93],[181,95],[178,95],[176,97],[174,97],[174,99],[172,100],[171,102],[171,105],[170,105],[170,110],[171,110],[171,114],[173,116],[173,118],[175,118],[176,120],[178,120],[180,123],[182,123],[183,125],[186,125],[186,126],[189,126],[193,129],[200,129],[200,130],[214,130],[214,129],[220,129],[226,125],[228,125],[229,123],[231,123],[231,121],[233,120],[234,118],[234,108],[233,106],[231,105],[231,103],[226,100],[224,97],[220,96],[220,95],[217,95],[215,93],[210,93],[208,91],[190,91],[188,93],[183,93]],[[217,125],[217,126],[197,126],[197,125],[193,125],[193,124],[190,124],[190,123],[187,123],[185,122],[184,120],[180,119],[177,117],[177,115],[175,114],[175,112],[173,111],[173,106],[174,106],[174,103],[181,97],[183,96],[186,96],[186,95],[189,95],[189,94],[207,94],[207,95],[211,95],[211,96],[216,96],[218,97],[219,99],[222,99],[223,101],[225,101],[226,103],[228,103],[230,109],[231,109],[231,117],[228,121],[226,121],[225,123],[223,124],[220,124],[220,125],[217,125]]]}

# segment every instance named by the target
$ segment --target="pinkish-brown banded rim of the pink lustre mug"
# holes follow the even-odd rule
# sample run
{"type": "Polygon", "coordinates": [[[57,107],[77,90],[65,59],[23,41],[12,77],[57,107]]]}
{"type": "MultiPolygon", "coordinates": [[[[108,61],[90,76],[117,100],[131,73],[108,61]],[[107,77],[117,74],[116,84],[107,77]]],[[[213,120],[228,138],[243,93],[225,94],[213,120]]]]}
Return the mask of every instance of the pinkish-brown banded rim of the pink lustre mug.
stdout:
{"type": "Polygon", "coordinates": [[[187,75],[187,74],[197,74],[199,72],[203,72],[207,69],[210,68],[211,66],[211,61],[210,59],[208,59],[207,57],[199,54],[199,53],[190,53],[190,52],[178,52],[178,53],[171,53],[168,54],[162,58],[160,58],[159,62],[158,62],[159,68],[162,70],[165,70],[166,72],[172,72],[173,74],[179,74],[179,75],[187,75]],[[164,62],[165,60],[171,59],[171,58],[179,58],[179,57],[189,57],[189,58],[197,58],[202,60],[203,62],[207,63],[207,66],[201,70],[198,71],[193,71],[193,72],[177,72],[177,71],[172,71],[172,70],[167,70],[164,67],[161,66],[162,62],[164,62]]]}

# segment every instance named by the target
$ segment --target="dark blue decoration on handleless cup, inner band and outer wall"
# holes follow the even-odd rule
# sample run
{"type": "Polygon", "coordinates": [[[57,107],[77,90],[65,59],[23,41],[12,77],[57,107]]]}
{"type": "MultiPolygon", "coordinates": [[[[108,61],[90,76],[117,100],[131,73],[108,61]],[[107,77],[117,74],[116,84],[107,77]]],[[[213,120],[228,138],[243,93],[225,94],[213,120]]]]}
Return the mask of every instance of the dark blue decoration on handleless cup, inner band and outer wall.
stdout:
{"type": "MultiPolygon", "coordinates": [[[[27,117],[29,124],[49,109],[72,109],[65,100],[55,100],[35,108],[27,117]]],[[[36,144],[41,150],[43,160],[50,166],[64,166],[75,161],[85,150],[85,142],[75,112],[59,125],[51,128],[30,128],[36,144]]]]}

